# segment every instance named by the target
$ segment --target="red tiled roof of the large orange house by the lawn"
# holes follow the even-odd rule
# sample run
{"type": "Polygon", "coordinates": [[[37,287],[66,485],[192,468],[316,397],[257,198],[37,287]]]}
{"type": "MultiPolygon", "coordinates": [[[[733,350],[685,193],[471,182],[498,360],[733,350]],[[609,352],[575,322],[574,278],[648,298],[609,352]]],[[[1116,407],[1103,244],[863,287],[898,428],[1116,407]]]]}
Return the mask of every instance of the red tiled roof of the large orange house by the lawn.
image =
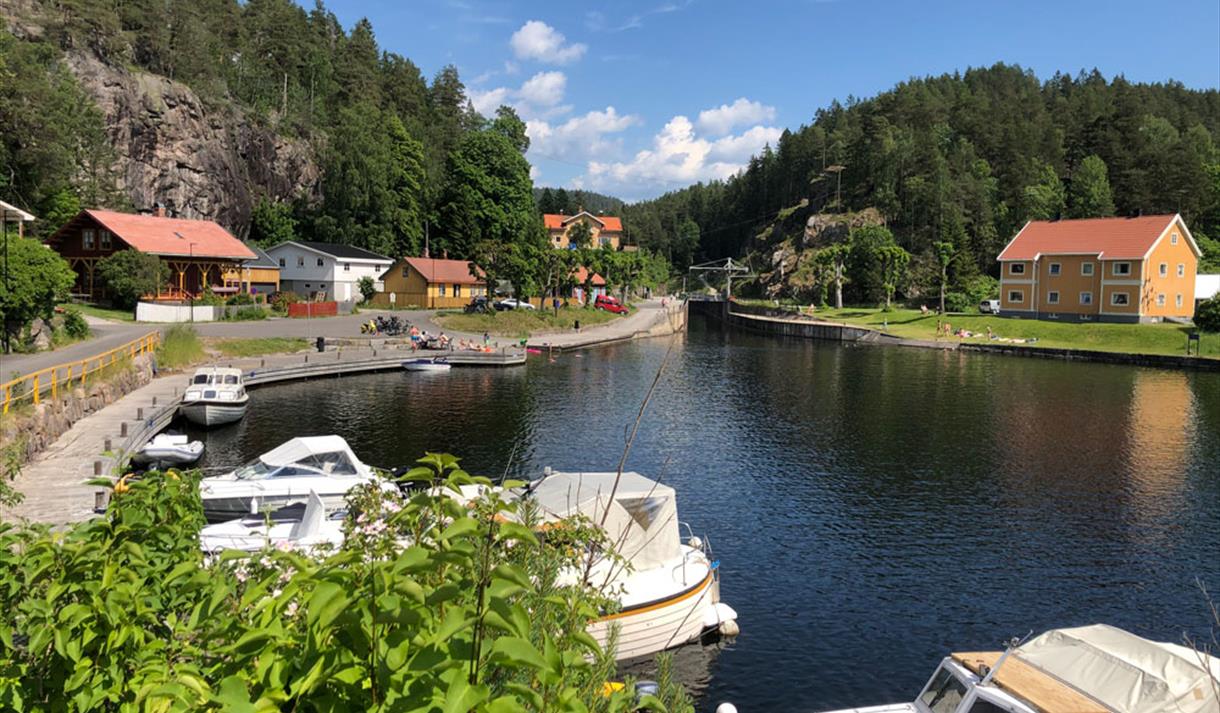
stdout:
{"type": "MultiPolygon", "coordinates": [[[[1033,260],[1038,255],[1100,255],[1103,260],[1138,260],[1148,254],[1176,215],[1031,221],[999,254],[999,260],[1033,260]]],[[[1187,242],[1198,254],[1194,241],[1187,242]]]]}

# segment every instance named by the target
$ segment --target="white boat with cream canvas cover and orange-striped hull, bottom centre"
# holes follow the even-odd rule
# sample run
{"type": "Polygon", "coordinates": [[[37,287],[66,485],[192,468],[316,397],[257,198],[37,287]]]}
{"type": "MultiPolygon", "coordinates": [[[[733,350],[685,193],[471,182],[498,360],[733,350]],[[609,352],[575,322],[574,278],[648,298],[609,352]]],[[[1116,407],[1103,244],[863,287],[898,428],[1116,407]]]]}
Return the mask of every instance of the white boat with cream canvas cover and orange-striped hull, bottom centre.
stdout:
{"type": "Polygon", "coordinates": [[[619,661],[698,641],[710,631],[736,635],[737,613],[720,601],[719,563],[698,537],[682,540],[673,488],[638,472],[623,472],[617,487],[615,481],[615,472],[548,472],[528,488],[545,520],[588,516],[631,565],[593,563],[587,581],[615,592],[620,608],[594,621],[589,634],[606,646],[617,626],[619,661]]]}

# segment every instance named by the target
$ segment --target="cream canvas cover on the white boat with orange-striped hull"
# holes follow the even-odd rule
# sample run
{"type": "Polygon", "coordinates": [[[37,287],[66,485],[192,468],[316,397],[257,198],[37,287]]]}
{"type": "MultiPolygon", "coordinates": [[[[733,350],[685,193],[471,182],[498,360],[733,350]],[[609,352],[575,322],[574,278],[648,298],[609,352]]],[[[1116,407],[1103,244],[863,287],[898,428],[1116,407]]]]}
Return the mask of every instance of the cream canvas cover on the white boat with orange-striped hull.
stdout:
{"type": "Polygon", "coordinates": [[[682,556],[676,493],[638,472],[553,472],[532,493],[550,519],[605,516],[605,531],[619,554],[637,569],[651,569],[682,556]],[[612,493],[612,496],[611,496],[612,493]]]}

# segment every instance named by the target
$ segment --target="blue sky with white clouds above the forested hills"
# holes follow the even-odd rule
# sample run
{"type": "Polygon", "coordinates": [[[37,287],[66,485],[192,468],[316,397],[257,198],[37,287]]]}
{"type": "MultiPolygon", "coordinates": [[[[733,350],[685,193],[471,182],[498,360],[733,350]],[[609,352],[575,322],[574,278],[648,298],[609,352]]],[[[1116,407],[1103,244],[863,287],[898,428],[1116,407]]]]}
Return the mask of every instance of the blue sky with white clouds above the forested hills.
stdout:
{"type": "MultiPolygon", "coordinates": [[[[304,1],[304,0],[303,0],[304,1]]],[[[311,2],[306,5],[312,6],[311,2]]],[[[820,107],[996,62],[1220,88],[1220,0],[328,0],[475,106],[537,186],[627,200],[726,178],[820,107]]]]}

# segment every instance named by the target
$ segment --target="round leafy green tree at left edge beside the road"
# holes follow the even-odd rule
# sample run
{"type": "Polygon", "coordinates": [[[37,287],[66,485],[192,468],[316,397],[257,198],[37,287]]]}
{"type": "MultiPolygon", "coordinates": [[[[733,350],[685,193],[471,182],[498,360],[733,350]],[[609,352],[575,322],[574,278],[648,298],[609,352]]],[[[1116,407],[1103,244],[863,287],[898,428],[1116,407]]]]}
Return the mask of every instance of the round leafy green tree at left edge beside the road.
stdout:
{"type": "Polygon", "coordinates": [[[35,319],[50,320],[55,305],[66,300],[76,272],[63,258],[33,238],[7,238],[6,275],[0,278],[0,320],[5,350],[35,319]]]}

